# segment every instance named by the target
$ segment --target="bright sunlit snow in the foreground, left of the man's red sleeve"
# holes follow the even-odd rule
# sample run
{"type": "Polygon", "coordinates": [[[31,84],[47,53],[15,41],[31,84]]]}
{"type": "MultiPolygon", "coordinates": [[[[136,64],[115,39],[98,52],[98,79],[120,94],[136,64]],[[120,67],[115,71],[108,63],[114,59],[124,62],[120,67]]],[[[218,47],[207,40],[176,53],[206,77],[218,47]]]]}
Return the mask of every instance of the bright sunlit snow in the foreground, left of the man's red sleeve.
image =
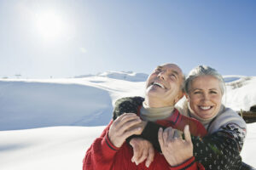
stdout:
{"type": "Polygon", "coordinates": [[[0,132],[0,169],[82,169],[104,127],[44,127],[0,132]]]}

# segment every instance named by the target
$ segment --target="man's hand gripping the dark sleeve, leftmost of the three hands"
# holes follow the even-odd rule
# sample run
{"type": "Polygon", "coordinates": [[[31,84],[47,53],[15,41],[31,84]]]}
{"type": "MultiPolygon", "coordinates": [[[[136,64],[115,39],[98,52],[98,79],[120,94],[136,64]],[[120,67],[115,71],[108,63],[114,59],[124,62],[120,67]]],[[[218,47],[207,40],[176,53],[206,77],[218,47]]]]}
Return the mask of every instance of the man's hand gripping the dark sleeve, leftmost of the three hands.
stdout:
{"type": "Polygon", "coordinates": [[[142,127],[137,126],[141,122],[142,120],[136,114],[125,113],[113,121],[108,138],[114,146],[119,148],[129,136],[142,133],[142,127]]]}

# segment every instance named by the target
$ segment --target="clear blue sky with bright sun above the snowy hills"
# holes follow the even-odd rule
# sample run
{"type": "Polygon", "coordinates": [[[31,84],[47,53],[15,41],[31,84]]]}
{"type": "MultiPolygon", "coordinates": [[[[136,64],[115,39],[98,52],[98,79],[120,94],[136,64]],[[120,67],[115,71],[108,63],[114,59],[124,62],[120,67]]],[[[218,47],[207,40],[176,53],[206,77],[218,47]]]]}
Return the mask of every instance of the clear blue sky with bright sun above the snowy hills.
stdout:
{"type": "Polygon", "coordinates": [[[256,1],[1,0],[0,77],[150,73],[177,63],[256,76],[256,1]]]}

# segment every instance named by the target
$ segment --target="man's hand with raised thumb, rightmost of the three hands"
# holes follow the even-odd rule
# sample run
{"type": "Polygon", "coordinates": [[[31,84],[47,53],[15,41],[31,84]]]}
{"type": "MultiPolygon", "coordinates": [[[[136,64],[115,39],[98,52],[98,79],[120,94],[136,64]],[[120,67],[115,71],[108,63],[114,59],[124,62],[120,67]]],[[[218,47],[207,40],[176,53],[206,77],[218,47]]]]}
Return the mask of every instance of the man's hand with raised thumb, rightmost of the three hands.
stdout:
{"type": "Polygon", "coordinates": [[[166,157],[166,161],[172,167],[182,164],[193,156],[193,144],[188,125],[184,128],[184,136],[185,139],[177,137],[177,130],[172,127],[166,128],[164,132],[162,128],[159,130],[158,140],[161,150],[166,157]]]}

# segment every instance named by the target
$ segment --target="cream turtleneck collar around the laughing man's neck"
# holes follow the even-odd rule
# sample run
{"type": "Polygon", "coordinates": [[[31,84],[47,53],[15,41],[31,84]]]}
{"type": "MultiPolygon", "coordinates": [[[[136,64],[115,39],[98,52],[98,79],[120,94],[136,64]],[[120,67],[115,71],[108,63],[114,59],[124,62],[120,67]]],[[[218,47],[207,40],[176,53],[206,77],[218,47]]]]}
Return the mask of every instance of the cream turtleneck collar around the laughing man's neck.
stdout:
{"type": "Polygon", "coordinates": [[[174,106],[151,108],[143,102],[143,106],[140,111],[144,121],[154,122],[171,116],[174,111],[174,106]]]}

